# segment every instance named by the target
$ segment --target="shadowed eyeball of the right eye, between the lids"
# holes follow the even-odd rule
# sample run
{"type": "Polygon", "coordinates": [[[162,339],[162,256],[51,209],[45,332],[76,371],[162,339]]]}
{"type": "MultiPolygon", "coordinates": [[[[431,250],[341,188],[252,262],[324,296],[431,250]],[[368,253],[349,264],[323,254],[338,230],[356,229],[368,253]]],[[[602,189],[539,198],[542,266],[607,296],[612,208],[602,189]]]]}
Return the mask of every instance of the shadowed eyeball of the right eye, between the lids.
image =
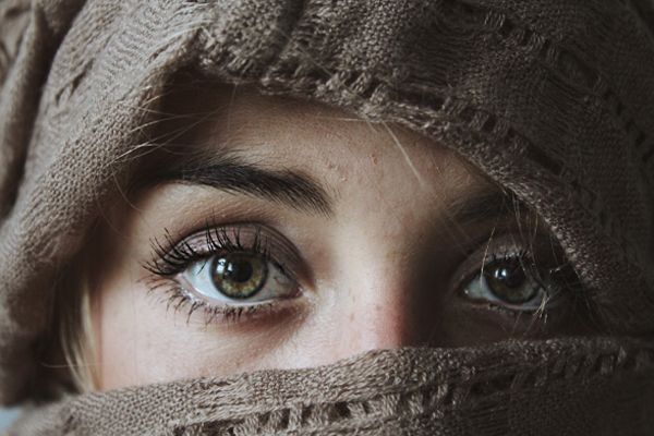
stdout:
{"type": "Polygon", "coordinates": [[[463,293],[471,300],[497,303],[508,308],[535,311],[550,296],[547,276],[521,255],[494,259],[469,281],[463,293]]]}

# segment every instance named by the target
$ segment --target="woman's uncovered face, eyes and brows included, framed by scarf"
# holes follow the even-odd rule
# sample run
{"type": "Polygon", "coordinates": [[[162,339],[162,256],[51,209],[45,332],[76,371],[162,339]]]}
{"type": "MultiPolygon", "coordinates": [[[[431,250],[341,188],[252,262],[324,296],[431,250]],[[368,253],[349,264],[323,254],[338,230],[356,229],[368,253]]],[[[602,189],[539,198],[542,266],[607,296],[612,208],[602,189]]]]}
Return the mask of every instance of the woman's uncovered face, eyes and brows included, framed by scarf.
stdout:
{"type": "Polygon", "coordinates": [[[250,90],[167,111],[94,239],[101,389],[583,331],[536,217],[441,144],[250,90]]]}

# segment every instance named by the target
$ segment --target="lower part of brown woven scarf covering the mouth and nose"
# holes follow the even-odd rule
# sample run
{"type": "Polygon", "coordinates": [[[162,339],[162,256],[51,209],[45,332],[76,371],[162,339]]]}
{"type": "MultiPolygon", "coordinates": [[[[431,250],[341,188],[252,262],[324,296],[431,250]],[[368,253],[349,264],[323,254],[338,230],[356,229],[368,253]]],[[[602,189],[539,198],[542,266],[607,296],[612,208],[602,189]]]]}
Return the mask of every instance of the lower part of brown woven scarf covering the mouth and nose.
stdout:
{"type": "Polygon", "coordinates": [[[654,347],[633,340],[371,351],[336,364],[89,393],[5,436],[651,435],[654,347]]]}

